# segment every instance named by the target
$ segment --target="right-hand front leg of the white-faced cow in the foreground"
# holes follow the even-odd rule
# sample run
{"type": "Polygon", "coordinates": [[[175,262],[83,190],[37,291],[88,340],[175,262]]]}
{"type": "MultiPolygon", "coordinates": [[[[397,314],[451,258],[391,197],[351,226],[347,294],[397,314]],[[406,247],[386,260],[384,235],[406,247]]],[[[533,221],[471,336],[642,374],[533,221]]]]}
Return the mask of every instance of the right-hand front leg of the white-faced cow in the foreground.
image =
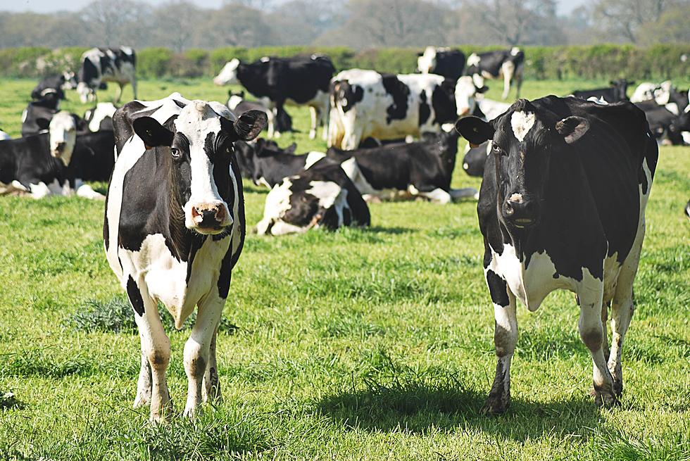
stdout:
{"type": "Polygon", "coordinates": [[[201,405],[201,384],[206,368],[210,365],[209,351],[220,322],[223,304],[225,300],[217,293],[211,293],[204,298],[199,303],[192,334],[187,343],[184,343],[184,371],[187,372],[189,382],[184,416],[193,417],[201,405]]]}

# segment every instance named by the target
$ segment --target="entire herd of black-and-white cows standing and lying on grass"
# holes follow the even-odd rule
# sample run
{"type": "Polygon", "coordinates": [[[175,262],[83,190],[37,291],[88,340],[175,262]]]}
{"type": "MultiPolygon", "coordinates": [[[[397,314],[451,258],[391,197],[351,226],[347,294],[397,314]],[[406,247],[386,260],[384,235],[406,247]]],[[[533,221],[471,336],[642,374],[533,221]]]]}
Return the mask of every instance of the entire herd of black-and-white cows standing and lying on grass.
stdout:
{"type": "Polygon", "coordinates": [[[613,405],[658,142],[689,141],[688,94],[667,82],[641,84],[630,102],[630,82],[618,80],[576,97],[484,98],[491,78],[503,79],[504,99],[513,84],[519,92],[524,60],[517,48],[465,59],[429,47],[418,73],[391,75],[336,73],[326,56],[233,59],[214,82],[241,84],[256,101],[173,93],[120,108],[98,103],[83,117],[60,111],[65,89],[88,100],[105,82],[120,84],[120,93],[127,82],[135,87],[134,51],[92,49],[77,76],[50,77],[32,91],[23,137],[0,141],[0,192],[106,199],[106,255],[142,346],[134,405],[150,405],[154,420],[171,406],[159,301],[177,327],[199,308],[184,346],[184,414],[220,396],[216,332],[244,245],[243,177],[270,188],[258,234],[366,226],[372,200],[478,198],[498,356],[487,412],[510,403],[516,300],[536,310],[556,289],[577,294],[596,402],[613,405]],[[310,137],[322,127],[327,151],[297,154],[294,144],[257,139],[265,127],[268,138],[291,130],[291,105],[310,108],[310,137]],[[460,135],[469,141],[463,168],[483,176],[478,193],[451,189],[460,135]],[[108,179],[107,197],[85,183],[108,179]]]}

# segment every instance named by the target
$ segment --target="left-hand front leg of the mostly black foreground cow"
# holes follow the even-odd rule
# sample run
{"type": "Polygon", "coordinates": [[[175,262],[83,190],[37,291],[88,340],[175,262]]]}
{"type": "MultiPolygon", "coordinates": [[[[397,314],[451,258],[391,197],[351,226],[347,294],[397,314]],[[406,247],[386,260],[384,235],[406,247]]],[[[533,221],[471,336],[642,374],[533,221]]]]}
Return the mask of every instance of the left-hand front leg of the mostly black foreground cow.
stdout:
{"type": "Polygon", "coordinates": [[[487,415],[501,415],[510,405],[510,362],[517,343],[515,295],[506,282],[492,271],[487,271],[487,284],[494,303],[494,346],[498,360],[494,384],[483,411],[487,415]]]}

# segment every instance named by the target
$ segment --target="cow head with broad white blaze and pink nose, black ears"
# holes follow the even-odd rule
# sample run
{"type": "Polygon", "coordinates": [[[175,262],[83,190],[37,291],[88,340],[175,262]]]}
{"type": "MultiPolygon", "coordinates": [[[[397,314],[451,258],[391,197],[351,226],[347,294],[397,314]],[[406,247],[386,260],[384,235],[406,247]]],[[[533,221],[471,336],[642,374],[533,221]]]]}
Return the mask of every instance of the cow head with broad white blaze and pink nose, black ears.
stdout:
{"type": "MultiPolygon", "coordinates": [[[[220,105],[218,105],[220,106],[220,105]]],[[[232,175],[234,141],[256,137],[266,125],[266,114],[250,110],[234,123],[230,112],[206,101],[192,101],[165,126],[142,117],[134,132],[147,148],[163,149],[169,159],[170,197],[184,212],[184,225],[199,234],[220,234],[232,225],[238,200],[232,175]]]]}

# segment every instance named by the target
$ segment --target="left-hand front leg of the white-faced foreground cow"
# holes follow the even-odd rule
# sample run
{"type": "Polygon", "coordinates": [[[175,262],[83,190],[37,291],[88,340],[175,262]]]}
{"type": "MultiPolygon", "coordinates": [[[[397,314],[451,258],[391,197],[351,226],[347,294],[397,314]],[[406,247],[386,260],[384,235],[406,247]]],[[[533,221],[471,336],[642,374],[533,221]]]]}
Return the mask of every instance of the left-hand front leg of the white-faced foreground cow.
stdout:
{"type": "MultiPolygon", "coordinates": [[[[151,367],[151,420],[165,422],[172,413],[168,383],[165,381],[165,370],[170,363],[170,339],[163,329],[161,315],[158,314],[158,303],[149,297],[143,284],[138,284],[139,288],[136,285],[133,282],[127,284],[127,296],[134,307],[134,321],[139,328],[142,350],[151,367]]],[[[143,370],[139,371],[139,383],[143,387],[146,378],[142,381],[142,372],[143,370]]],[[[137,389],[137,398],[138,394],[137,389]]]]}

